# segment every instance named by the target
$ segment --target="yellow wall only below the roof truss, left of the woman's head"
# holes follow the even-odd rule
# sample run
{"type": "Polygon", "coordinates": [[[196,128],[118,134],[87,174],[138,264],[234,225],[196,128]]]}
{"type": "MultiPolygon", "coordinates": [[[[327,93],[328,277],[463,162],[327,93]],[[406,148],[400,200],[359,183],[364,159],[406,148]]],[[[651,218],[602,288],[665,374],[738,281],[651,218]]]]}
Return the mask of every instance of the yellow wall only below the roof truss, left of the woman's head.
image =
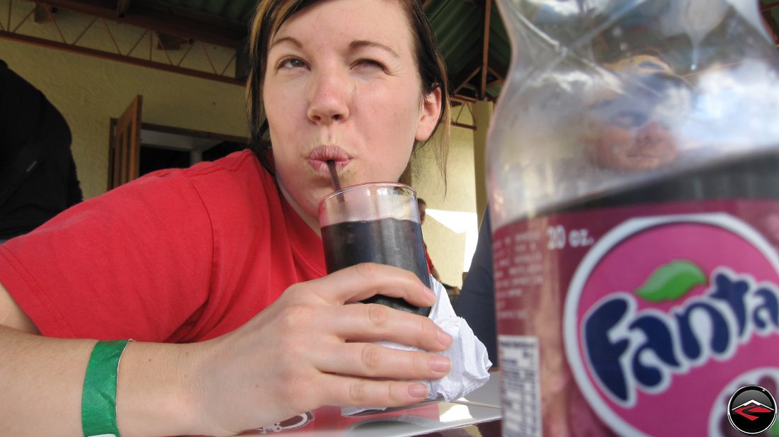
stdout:
{"type": "Polygon", "coordinates": [[[108,181],[111,118],[143,95],[143,122],[247,136],[241,86],[0,40],[0,57],[62,112],[85,198],[108,181]]]}

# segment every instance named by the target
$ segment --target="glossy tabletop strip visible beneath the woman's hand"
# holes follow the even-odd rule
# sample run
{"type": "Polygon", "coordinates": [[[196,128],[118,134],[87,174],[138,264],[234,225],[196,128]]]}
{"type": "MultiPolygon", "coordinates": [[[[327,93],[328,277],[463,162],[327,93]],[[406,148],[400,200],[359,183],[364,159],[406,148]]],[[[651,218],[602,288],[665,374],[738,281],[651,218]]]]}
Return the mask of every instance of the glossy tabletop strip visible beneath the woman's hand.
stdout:
{"type": "Polygon", "coordinates": [[[500,435],[498,372],[468,396],[452,402],[428,401],[404,409],[362,413],[348,418],[338,407],[323,407],[290,421],[242,436],[281,432],[284,437],[498,437],[500,435]]]}

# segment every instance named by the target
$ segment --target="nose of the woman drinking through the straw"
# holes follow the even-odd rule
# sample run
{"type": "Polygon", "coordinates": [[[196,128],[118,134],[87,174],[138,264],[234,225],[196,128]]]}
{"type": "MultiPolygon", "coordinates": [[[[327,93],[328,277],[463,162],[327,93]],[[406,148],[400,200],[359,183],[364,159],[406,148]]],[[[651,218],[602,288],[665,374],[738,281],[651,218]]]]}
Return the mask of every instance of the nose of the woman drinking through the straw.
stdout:
{"type": "Polygon", "coordinates": [[[311,76],[306,88],[309,120],[330,125],[349,118],[354,82],[346,72],[322,69],[311,76]]]}

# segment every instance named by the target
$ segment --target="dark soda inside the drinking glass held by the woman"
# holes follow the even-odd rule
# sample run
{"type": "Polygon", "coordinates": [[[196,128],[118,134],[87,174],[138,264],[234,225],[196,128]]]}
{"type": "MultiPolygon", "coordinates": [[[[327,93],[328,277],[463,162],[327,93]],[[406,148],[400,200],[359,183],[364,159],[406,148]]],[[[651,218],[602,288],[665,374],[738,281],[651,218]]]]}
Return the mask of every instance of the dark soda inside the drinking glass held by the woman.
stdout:
{"type": "MultiPolygon", "coordinates": [[[[328,273],[360,263],[379,263],[414,272],[425,286],[431,286],[422,228],[414,221],[386,218],[331,224],[322,228],[322,242],[328,273]]],[[[420,308],[382,294],[363,302],[425,316],[430,313],[430,307],[420,308]]]]}

